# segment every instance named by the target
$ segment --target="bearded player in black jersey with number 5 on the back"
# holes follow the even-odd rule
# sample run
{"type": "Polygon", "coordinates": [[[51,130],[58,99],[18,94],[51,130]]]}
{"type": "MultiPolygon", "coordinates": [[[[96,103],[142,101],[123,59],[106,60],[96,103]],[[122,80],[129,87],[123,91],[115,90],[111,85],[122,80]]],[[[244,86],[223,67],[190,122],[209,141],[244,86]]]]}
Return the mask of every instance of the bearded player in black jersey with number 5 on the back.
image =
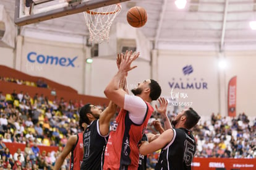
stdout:
{"type": "Polygon", "coordinates": [[[197,144],[190,129],[199,119],[200,116],[192,108],[182,111],[172,121],[174,129],[164,131],[150,143],[142,143],[140,154],[147,155],[162,149],[155,169],[191,169],[197,144]]]}

